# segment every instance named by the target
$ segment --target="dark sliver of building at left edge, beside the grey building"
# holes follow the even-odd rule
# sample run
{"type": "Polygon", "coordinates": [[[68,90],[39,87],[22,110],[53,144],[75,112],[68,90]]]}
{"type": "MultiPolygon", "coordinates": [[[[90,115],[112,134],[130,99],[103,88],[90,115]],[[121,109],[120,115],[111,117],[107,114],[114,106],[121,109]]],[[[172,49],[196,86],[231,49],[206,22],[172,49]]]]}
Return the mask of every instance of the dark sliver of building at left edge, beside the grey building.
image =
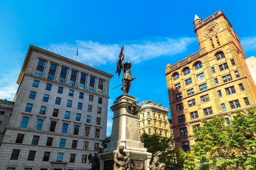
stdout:
{"type": "Polygon", "coordinates": [[[14,102],[0,99],[0,143],[3,140],[3,133],[10,120],[14,102]]]}

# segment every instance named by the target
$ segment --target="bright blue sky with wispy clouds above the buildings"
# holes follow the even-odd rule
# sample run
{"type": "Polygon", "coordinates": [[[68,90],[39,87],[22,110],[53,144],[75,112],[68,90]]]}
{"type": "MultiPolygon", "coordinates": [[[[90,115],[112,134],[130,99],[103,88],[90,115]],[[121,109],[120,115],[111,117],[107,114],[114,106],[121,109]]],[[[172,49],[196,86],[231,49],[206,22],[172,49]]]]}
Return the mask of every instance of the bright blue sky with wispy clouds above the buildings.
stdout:
{"type": "MultiPolygon", "coordinates": [[[[0,99],[12,100],[29,45],[115,74],[124,42],[132,63],[130,95],[169,108],[165,67],[199,50],[195,14],[203,20],[222,10],[239,36],[246,57],[256,55],[256,1],[0,1],[0,99]]],[[[110,88],[121,84],[115,76],[110,88]]],[[[110,105],[121,95],[110,91],[110,105]]],[[[113,113],[108,112],[111,133],[113,113]]],[[[170,118],[170,113],[169,113],[170,118]]]]}

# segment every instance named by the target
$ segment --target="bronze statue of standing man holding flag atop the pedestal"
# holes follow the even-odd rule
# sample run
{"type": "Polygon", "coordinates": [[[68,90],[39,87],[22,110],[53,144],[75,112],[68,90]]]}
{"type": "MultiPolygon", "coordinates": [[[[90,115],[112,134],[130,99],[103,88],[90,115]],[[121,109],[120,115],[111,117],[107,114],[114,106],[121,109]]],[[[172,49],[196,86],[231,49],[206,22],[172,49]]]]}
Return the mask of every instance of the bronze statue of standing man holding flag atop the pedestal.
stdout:
{"type": "Polygon", "coordinates": [[[124,94],[128,94],[131,86],[131,81],[134,80],[136,77],[131,77],[131,62],[125,62],[123,63],[125,59],[124,55],[124,45],[122,44],[121,51],[119,53],[119,58],[117,61],[116,66],[116,73],[118,73],[118,77],[121,73],[121,70],[123,71],[123,77],[122,77],[122,88],[124,94]]]}

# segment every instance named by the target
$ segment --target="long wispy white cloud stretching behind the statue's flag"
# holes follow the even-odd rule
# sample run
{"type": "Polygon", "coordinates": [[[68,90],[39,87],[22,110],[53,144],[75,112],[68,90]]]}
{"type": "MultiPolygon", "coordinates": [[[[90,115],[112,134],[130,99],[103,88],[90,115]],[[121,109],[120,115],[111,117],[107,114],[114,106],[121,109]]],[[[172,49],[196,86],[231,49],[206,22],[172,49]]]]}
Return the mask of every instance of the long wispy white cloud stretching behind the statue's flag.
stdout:
{"type": "MultiPolygon", "coordinates": [[[[157,38],[154,40],[134,41],[125,44],[125,56],[134,64],[147,59],[153,59],[161,56],[173,56],[186,51],[187,46],[194,42],[195,38],[183,37],[179,39],[157,38]]],[[[106,65],[116,62],[121,45],[101,44],[93,41],[76,40],[75,43],[55,43],[42,46],[42,48],[52,51],[56,54],[76,58],[76,49],[78,50],[77,61],[87,65],[106,65]]]]}

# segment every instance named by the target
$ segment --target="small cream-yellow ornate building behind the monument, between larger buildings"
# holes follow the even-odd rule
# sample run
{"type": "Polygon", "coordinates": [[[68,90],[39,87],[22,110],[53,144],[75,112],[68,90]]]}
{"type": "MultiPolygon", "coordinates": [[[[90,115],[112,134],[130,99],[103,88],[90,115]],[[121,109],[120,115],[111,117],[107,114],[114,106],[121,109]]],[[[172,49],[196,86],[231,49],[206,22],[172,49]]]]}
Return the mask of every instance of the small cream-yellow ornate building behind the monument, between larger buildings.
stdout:
{"type": "Polygon", "coordinates": [[[151,100],[139,103],[141,109],[138,112],[140,135],[144,132],[148,134],[160,134],[165,137],[170,135],[170,125],[168,119],[169,109],[163,105],[151,102],[151,100]]]}

